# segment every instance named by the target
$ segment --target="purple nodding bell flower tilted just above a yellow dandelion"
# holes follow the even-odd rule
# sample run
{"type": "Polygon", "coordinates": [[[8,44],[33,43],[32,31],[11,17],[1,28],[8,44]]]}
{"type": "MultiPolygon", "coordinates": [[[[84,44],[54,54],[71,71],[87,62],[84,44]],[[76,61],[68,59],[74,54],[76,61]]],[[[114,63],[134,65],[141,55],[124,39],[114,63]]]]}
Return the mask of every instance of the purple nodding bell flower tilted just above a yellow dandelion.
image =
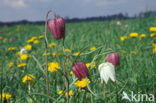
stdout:
{"type": "Polygon", "coordinates": [[[72,67],[72,71],[75,74],[75,76],[81,80],[82,78],[85,78],[86,76],[89,76],[88,69],[83,62],[78,62],[72,67]]]}

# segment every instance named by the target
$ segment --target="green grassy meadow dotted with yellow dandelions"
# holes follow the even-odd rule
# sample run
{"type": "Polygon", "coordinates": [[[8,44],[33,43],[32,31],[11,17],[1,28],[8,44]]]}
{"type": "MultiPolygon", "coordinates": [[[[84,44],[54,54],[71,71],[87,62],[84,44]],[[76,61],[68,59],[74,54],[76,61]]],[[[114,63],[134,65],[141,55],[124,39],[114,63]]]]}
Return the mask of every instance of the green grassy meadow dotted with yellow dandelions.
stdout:
{"type": "MultiPolygon", "coordinates": [[[[153,94],[156,98],[156,52],[154,52],[156,36],[151,37],[153,32],[149,30],[150,27],[156,27],[156,17],[120,20],[121,25],[117,25],[117,21],[66,23],[65,49],[71,50],[71,56],[67,57],[65,62],[69,90],[72,90],[69,96],[70,103],[135,103],[135,101],[121,100],[123,91],[128,96],[131,96],[133,91],[138,95],[148,94],[149,97],[153,94]],[[139,35],[131,38],[129,34],[132,32],[139,35]],[[146,36],[140,39],[141,34],[146,36]],[[121,36],[127,36],[127,39],[121,41],[121,36]],[[90,50],[92,47],[96,49],[90,50]],[[76,52],[81,53],[74,55],[76,52]],[[115,67],[116,81],[101,83],[98,65],[106,62],[107,54],[111,52],[120,54],[120,65],[115,67]],[[74,85],[77,78],[71,74],[71,68],[75,61],[92,64],[88,67],[89,87],[96,96],[87,87],[80,88],[74,85]]],[[[1,93],[11,95],[7,100],[8,103],[47,103],[48,98],[50,103],[66,102],[67,89],[62,73],[64,58],[69,53],[63,51],[62,40],[54,40],[48,30],[48,43],[56,44],[48,46],[48,63],[57,62],[60,67],[58,71],[49,71],[50,96],[48,97],[45,39],[39,39],[39,36],[44,36],[44,31],[44,25],[30,24],[0,28],[0,90],[1,93]],[[32,43],[28,43],[32,37],[34,38],[32,43]],[[16,40],[12,41],[12,38],[16,40]],[[35,40],[39,42],[36,41],[35,44],[35,40]],[[21,57],[18,52],[28,44],[32,46],[31,50],[27,50],[26,56],[21,57]],[[12,64],[8,65],[10,62],[12,64]],[[19,67],[21,63],[26,65],[19,67]],[[35,78],[32,82],[23,83],[23,77],[28,74],[32,74],[35,78]],[[58,93],[60,90],[63,91],[62,94],[58,93]]],[[[146,98],[144,102],[145,100],[146,98]]],[[[1,99],[1,102],[3,101],[1,99]]],[[[147,100],[146,103],[148,102],[150,101],[147,100]]]]}

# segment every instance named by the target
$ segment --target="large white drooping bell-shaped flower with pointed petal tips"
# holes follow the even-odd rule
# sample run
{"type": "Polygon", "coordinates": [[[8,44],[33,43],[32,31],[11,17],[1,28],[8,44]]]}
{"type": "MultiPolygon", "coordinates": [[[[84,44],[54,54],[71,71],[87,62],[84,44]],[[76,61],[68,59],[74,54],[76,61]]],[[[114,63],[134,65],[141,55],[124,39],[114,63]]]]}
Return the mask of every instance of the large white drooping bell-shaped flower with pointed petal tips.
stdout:
{"type": "Polygon", "coordinates": [[[114,65],[112,63],[102,63],[98,67],[101,77],[101,83],[103,83],[103,80],[107,84],[109,78],[114,82],[115,81],[115,69],[114,65]]]}

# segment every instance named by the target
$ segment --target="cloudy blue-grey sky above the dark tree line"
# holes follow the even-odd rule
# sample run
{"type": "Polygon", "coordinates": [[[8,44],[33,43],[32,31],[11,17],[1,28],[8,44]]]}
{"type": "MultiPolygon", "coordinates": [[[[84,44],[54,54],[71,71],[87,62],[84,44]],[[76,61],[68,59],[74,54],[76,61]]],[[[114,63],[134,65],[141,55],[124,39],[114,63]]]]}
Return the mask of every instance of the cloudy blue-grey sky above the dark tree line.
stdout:
{"type": "Polygon", "coordinates": [[[0,0],[0,21],[44,20],[49,9],[69,18],[117,13],[133,16],[142,11],[156,11],[156,0],[0,0]]]}

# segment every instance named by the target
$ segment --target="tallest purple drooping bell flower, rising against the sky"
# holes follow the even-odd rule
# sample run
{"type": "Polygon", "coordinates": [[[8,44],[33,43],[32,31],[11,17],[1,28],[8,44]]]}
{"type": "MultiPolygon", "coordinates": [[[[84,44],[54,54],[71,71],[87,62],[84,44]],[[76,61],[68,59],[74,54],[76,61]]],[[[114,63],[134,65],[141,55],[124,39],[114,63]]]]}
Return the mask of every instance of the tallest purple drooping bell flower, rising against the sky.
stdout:
{"type": "Polygon", "coordinates": [[[48,28],[56,40],[65,39],[65,22],[62,17],[55,17],[48,22],[48,28]]]}

